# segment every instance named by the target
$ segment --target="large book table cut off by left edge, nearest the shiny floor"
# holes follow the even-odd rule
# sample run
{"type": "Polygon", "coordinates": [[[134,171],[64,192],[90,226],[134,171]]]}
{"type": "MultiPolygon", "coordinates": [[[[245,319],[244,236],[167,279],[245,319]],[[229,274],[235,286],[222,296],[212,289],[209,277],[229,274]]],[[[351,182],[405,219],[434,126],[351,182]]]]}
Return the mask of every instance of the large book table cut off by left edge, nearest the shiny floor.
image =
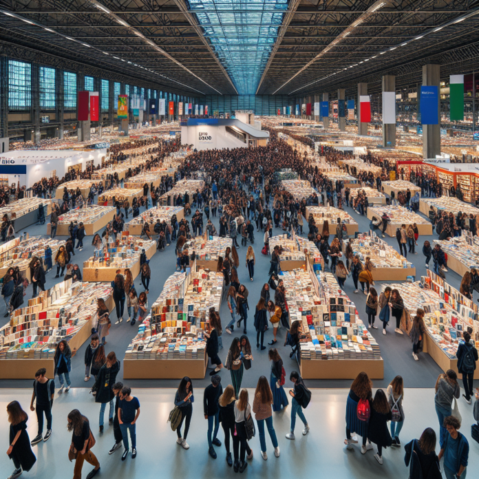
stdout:
{"type": "Polygon", "coordinates": [[[78,350],[96,326],[98,298],[113,310],[113,288],[72,280],[56,284],[15,310],[0,329],[0,379],[31,379],[39,368],[54,377],[56,344],[65,339],[78,350]]]}

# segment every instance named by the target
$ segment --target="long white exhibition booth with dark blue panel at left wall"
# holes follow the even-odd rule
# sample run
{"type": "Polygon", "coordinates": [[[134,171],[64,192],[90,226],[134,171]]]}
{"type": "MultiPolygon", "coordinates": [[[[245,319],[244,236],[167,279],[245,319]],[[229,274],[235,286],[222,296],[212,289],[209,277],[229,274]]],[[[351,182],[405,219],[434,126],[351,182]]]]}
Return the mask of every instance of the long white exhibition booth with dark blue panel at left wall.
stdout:
{"type": "Polygon", "coordinates": [[[8,176],[8,184],[20,182],[31,188],[42,178],[52,175],[63,178],[70,167],[85,171],[87,165],[102,164],[107,149],[77,150],[16,150],[0,155],[0,176],[8,176]],[[92,162],[92,163],[91,163],[92,162]],[[80,166],[81,165],[81,166],[80,166]]]}

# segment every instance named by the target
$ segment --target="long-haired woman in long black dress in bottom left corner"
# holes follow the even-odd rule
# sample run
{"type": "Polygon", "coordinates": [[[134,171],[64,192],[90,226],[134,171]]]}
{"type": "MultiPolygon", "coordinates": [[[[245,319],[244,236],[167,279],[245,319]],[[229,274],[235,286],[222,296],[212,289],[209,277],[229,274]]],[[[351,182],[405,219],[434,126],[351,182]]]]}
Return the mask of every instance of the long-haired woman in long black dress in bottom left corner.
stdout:
{"type": "Polygon", "coordinates": [[[33,454],[30,438],[27,432],[28,414],[23,411],[18,401],[7,405],[8,422],[10,423],[10,436],[7,454],[15,467],[8,479],[18,478],[23,471],[30,471],[36,457],[33,454]]]}

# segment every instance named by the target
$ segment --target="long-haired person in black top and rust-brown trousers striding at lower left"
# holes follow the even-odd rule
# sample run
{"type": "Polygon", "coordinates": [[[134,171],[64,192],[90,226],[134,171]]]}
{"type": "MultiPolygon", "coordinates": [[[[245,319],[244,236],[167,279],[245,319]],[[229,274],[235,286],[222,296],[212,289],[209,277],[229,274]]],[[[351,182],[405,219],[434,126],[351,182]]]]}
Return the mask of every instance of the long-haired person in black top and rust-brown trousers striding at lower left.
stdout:
{"type": "Polygon", "coordinates": [[[75,459],[73,479],[81,479],[81,470],[85,460],[94,466],[94,469],[87,475],[87,479],[92,479],[100,471],[100,462],[92,452],[95,439],[90,430],[89,421],[78,409],[70,411],[67,421],[67,429],[72,432],[72,443],[68,451],[68,458],[70,458],[70,461],[75,459]]]}

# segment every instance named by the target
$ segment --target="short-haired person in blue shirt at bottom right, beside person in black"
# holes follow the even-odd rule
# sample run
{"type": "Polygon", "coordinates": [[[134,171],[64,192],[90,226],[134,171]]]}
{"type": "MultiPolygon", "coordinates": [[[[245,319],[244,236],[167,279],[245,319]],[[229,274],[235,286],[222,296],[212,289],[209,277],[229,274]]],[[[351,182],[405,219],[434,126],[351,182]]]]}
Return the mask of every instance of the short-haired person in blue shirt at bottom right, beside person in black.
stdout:
{"type": "Polygon", "coordinates": [[[469,443],[461,434],[460,421],[456,416],[447,416],[444,420],[446,434],[444,444],[439,451],[439,460],[444,457],[444,473],[446,479],[465,479],[467,461],[469,460],[469,443]]]}

